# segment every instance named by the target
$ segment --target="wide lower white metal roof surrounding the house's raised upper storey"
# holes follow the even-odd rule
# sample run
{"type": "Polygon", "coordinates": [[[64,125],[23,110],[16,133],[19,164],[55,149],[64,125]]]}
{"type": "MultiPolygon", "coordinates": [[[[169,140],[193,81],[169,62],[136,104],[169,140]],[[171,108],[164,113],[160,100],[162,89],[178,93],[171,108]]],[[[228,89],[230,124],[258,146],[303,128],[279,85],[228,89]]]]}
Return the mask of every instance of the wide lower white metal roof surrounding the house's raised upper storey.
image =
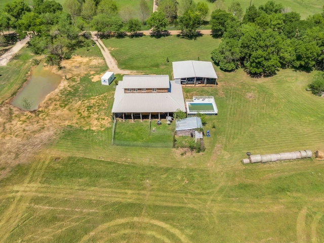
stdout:
{"type": "Polygon", "coordinates": [[[169,81],[168,93],[125,93],[124,82],[119,81],[116,86],[112,113],[186,111],[180,82],[169,81]]]}

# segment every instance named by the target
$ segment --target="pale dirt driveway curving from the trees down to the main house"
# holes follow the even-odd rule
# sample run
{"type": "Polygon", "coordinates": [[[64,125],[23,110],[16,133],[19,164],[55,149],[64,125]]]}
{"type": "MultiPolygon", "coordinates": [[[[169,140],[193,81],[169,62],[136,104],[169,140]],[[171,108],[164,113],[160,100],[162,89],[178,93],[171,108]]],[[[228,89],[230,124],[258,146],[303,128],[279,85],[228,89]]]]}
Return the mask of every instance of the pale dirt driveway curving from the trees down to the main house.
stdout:
{"type": "Polygon", "coordinates": [[[105,58],[105,61],[108,66],[108,70],[113,72],[113,73],[118,73],[118,74],[138,74],[136,71],[131,71],[131,70],[124,70],[118,68],[117,61],[110,55],[110,52],[106,48],[106,46],[103,44],[100,38],[97,37],[97,32],[91,32],[92,34],[92,40],[97,44],[99,47],[103,57],[105,58]]]}

